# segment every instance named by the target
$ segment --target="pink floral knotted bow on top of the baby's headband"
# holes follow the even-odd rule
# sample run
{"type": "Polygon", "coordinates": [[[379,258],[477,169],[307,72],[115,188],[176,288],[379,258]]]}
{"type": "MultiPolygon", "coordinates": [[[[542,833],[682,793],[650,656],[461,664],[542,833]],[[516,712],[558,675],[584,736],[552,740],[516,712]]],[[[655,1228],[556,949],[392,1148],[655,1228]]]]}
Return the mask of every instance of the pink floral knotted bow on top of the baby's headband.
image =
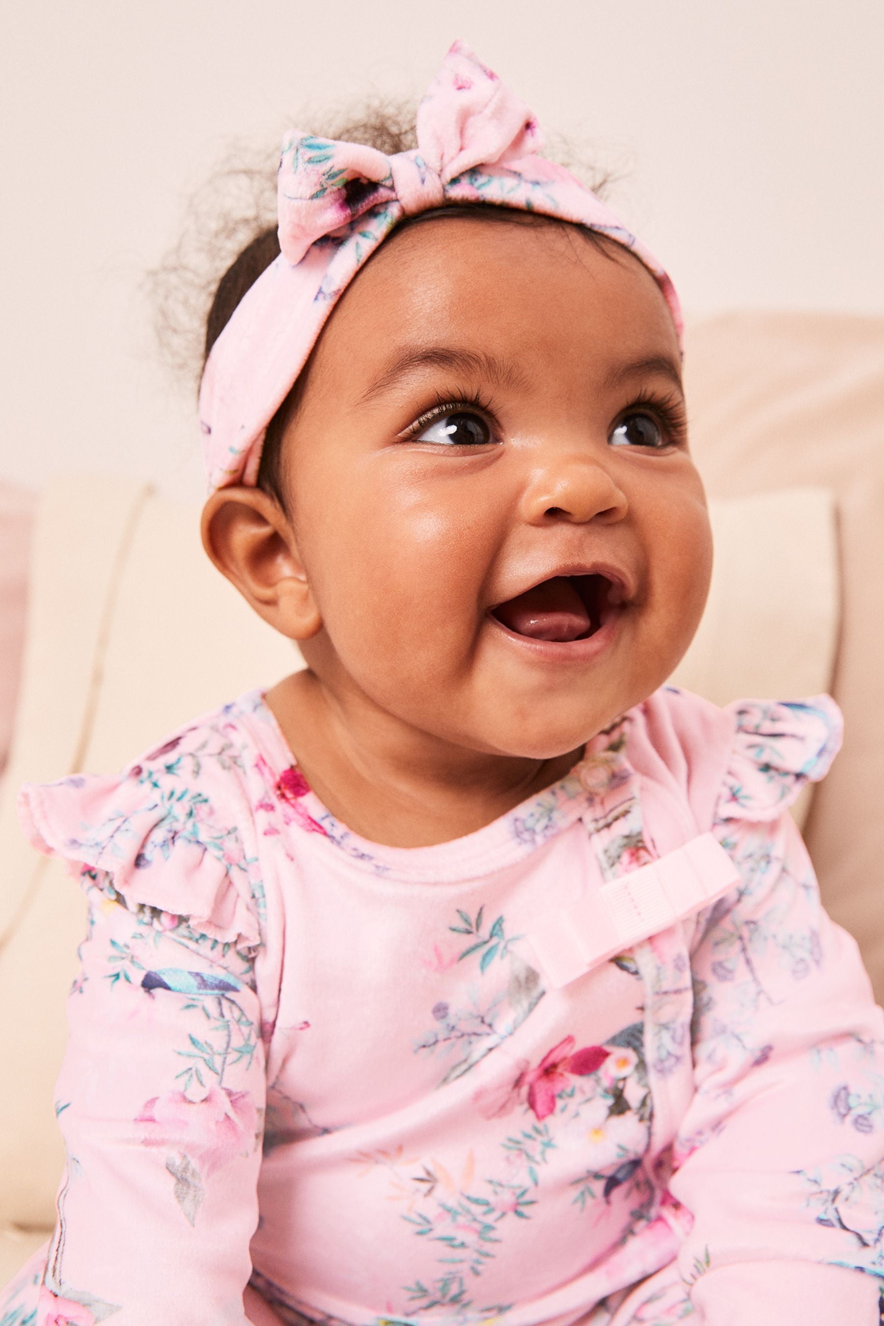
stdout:
{"type": "Polygon", "coordinates": [[[278,175],[280,248],[300,263],[311,244],[380,203],[403,215],[441,206],[448,186],[482,167],[505,172],[539,151],[541,131],[521,97],[456,41],[417,107],[417,147],[386,156],[359,143],[293,131],[278,175]]]}

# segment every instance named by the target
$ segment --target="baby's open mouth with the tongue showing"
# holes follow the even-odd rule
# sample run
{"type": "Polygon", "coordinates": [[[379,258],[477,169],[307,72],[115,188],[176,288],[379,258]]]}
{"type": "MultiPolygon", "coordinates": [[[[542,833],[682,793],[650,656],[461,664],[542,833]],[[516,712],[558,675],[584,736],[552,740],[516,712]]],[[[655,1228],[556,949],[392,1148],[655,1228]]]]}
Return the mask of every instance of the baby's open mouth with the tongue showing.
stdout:
{"type": "Polygon", "coordinates": [[[533,640],[584,640],[623,602],[619,585],[607,575],[553,575],[492,609],[492,617],[517,635],[533,640]]]}

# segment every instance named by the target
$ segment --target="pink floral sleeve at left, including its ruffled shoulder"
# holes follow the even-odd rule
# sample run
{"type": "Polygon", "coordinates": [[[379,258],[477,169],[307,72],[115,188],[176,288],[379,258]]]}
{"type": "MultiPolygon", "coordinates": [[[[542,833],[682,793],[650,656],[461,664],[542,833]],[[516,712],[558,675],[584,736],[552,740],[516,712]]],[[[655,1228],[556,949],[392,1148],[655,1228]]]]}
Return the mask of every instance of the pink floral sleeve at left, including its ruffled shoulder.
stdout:
{"type": "Polygon", "coordinates": [[[253,825],[225,732],[23,789],[89,899],[56,1087],[66,1147],[34,1326],[245,1326],[265,1103],[253,825]]]}

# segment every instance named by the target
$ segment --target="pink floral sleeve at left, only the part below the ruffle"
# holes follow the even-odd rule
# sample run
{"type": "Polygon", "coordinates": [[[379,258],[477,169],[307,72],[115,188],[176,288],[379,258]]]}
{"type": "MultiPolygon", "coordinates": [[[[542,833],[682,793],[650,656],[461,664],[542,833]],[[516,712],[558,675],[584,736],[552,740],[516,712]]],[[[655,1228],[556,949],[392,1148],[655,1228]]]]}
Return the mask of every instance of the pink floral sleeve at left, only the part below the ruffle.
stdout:
{"type": "Polygon", "coordinates": [[[184,920],[127,911],[85,874],[90,934],[56,1102],[68,1160],[37,1326],[65,1315],[60,1299],[77,1322],[244,1326],[265,1090],[250,963],[184,920]]]}

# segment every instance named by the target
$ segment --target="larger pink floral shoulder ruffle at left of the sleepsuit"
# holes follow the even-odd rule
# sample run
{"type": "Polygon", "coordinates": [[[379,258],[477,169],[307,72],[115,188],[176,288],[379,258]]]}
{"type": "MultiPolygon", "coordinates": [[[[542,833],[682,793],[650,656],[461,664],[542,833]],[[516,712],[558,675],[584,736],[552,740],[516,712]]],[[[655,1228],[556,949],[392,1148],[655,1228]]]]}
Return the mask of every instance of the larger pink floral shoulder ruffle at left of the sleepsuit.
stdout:
{"type": "Polygon", "coordinates": [[[32,845],[72,874],[98,873],[130,910],[253,951],[261,886],[243,761],[231,724],[201,723],[118,777],[27,784],[19,817],[32,845]]]}

